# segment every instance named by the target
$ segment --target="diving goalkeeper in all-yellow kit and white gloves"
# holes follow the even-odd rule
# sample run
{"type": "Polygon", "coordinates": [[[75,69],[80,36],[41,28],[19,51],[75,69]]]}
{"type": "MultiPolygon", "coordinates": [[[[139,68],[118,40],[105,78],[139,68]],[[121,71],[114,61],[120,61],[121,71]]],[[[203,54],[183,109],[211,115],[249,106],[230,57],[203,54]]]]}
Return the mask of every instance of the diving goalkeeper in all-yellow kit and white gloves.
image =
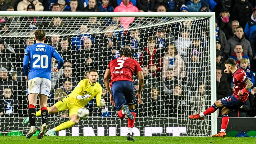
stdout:
{"type": "MultiPolygon", "coordinates": [[[[73,125],[77,124],[80,119],[77,114],[78,109],[84,107],[93,97],[96,96],[96,103],[98,107],[105,106],[105,101],[101,99],[102,87],[98,82],[96,82],[97,79],[97,70],[90,70],[89,79],[81,80],[71,94],[48,108],[49,113],[57,113],[59,111],[68,109],[70,120],[60,124],[59,126],[51,130],[48,130],[46,132],[47,135],[55,136],[55,132],[70,128],[73,125]]],[[[36,116],[40,115],[41,111],[36,112],[36,116]]],[[[25,125],[28,122],[29,119],[27,117],[23,120],[22,124],[25,125]]]]}

